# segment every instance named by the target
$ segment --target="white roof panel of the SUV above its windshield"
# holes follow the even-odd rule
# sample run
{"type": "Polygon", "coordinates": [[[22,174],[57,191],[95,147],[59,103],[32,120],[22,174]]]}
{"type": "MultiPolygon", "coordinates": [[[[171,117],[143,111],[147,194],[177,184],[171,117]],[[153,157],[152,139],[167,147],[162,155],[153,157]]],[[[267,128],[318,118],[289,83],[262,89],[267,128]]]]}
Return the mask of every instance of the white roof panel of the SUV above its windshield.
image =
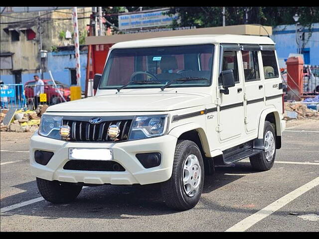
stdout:
{"type": "Polygon", "coordinates": [[[135,48],[152,46],[173,46],[173,45],[192,45],[206,43],[239,43],[239,44],[271,44],[274,41],[266,36],[246,36],[246,35],[190,35],[190,36],[171,36],[150,38],[135,41],[123,41],[116,43],[113,48],[135,48]]]}

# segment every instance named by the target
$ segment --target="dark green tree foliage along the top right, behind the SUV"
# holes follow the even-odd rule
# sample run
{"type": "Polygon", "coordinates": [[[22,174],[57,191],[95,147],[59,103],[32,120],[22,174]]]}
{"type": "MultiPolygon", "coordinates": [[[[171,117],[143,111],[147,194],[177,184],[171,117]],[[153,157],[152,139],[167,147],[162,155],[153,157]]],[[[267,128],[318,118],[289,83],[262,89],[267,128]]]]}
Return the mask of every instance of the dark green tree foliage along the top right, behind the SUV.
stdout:
{"type": "MultiPolygon", "coordinates": [[[[170,7],[169,15],[179,13],[179,23],[177,26],[196,26],[212,27],[222,25],[223,7],[204,6],[204,7],[170,7]]],[[[300,15],[299,22],[303,26],[319,22],[319,7],[243,7],[227,6],[226,25],[245,24],[245,10],[248,10],[248,24],[262,24],[268,26],[294,24],[293,16],[300,15]]],[[[176,24],[176,22],[174,23],[176,24]]]]}

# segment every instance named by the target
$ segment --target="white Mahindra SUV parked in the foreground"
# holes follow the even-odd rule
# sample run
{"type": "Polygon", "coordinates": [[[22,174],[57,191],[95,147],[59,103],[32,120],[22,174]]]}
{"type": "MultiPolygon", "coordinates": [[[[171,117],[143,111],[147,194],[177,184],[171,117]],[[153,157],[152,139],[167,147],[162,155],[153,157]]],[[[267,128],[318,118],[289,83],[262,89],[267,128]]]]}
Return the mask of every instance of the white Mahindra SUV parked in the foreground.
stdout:
{"type": "Polygon", "coordinates": [[[31,138],[31,171],[52,203],[83,185],[161,183],[167,206],[187,210],[215,166],[249,157],[269,170],[281,147],[282,81],[268,37],[117,43],[94,85],[94,97],[49,107],[31,138]]]}

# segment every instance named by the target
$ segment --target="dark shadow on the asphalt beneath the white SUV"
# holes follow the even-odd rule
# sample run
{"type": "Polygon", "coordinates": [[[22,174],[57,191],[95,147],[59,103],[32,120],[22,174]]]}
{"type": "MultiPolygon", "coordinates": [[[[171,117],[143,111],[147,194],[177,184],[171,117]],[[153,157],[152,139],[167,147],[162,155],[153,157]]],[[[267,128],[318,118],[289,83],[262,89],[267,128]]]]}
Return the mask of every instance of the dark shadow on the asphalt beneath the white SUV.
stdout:
{"type": "MultiPolygon", "coordinates": [[[[244,176],[225,173],[256,173],[250,163],[235,167],[217,167],[212,176],[206,176],[203,194],[210,193],[244,176]]],[[[1,208],[21,201],[40,197],[35,181],[15,185],[25,192],[1,199],[1,208]]],[[[201,201],[205,201],[202,198],[201,201]]],[[[160,184],[153,185],[102,185],[82,189],[77,199],[68,204],[52,204],[40,201],[2,214],[1,216],[32,215],[45,219],[57,218],[101,218],[132,219],[143,216],[178,213],[166,207],[160,193],[160,184]]]]}

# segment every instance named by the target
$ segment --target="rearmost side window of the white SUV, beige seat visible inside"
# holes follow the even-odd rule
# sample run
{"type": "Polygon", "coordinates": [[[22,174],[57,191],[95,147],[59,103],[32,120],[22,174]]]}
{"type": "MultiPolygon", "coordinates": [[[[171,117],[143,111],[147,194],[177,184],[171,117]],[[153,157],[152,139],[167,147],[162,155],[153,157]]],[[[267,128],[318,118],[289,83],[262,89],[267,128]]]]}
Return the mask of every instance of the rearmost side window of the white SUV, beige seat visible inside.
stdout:
{"type": "Polygon", "coordinates": [[[275,51],[262,51],[265,79],[279,77],[275,51]]]}

